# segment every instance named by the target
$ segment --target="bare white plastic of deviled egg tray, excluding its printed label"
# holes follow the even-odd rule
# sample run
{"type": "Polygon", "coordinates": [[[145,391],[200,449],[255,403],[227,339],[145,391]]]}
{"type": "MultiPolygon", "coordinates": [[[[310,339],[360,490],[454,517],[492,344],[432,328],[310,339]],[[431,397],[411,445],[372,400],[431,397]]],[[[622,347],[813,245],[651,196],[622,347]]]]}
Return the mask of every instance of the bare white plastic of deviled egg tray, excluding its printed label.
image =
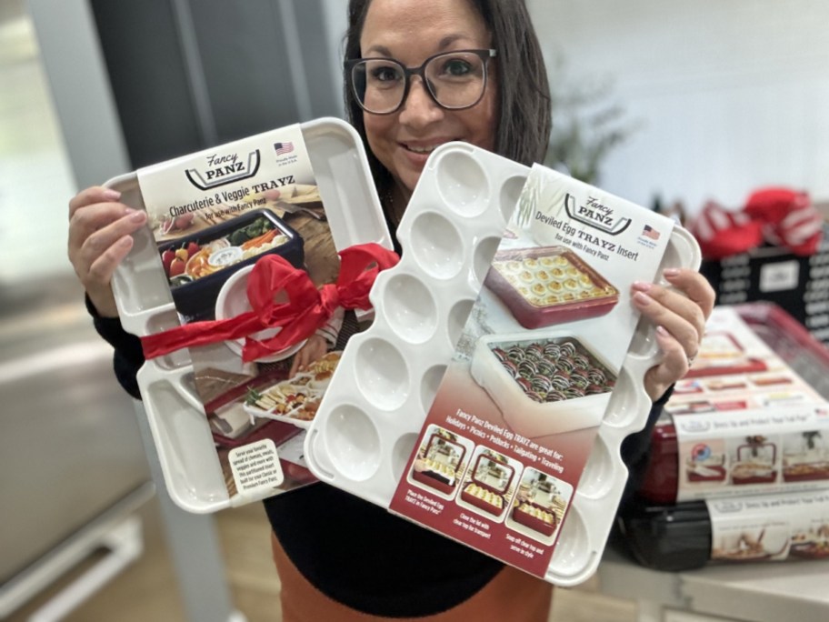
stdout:
{"type": "MultiPolygon", "coordinates": [[[[305,437],[316,477],[390,506],[529,170],[464,143],[434,150],[398,228],[403,257],[372,289],[375,321],[351,338],[305,437]]],[[[698,269],[700,259],[676,226],[656,274],[698,269]]],[[[640,322],[560,527],[550,583],[583,583],[599,565],[627,480],[619,447],[644,426],[644,373],[658,356],[655,327],[640,322]]]]}

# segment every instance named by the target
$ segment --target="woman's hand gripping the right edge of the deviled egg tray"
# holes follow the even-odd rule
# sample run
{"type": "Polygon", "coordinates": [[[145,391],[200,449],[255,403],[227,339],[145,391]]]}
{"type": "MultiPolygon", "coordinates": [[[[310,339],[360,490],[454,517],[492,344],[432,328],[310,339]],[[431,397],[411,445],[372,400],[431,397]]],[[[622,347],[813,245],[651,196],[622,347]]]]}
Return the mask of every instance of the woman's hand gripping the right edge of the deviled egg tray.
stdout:
{"type": "Polygon", "coordinates": [[[634,306],[656,325],[656,343],[664,353],[662,362],[644,376],[644,389],[654,401],[688,372],[715,297],[708,281],[694,270],[669,268],[663,275],[675,290],[640,281],[633,286],[634,306]]]}

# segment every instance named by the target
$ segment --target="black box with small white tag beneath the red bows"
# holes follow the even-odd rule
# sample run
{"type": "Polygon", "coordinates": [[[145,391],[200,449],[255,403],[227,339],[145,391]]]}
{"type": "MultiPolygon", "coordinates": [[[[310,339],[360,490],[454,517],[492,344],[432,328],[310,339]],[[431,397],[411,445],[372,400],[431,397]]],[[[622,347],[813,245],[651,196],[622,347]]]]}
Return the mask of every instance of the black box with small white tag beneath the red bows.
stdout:
{"type": "Polygon", "coordinates": [[[700,272],[714,287],[718,305],[774,303],[829,344],[829,226],[824,225],[812,256],[763,246],[720,261],[704,260],[700,272]]]}

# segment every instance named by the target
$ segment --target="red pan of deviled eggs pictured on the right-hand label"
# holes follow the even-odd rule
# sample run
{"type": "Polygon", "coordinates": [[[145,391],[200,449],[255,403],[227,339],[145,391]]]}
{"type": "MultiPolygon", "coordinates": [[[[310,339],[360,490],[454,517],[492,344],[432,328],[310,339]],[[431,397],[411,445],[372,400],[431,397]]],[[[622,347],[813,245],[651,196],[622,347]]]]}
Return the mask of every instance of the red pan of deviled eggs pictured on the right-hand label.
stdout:
{"type": "Polygon", "coordinates": [[[619,302],[618,290],[564,246],[499,251],[484,285],[524,328],[603,316],[619,302]]]}

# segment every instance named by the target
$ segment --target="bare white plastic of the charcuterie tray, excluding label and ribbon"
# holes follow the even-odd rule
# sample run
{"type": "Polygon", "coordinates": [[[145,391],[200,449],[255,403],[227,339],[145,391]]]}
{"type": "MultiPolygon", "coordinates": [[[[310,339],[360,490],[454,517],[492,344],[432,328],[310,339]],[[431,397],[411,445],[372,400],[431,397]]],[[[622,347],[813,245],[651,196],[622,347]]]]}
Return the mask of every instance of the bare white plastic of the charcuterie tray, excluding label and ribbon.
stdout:
{"type": "MultiPolygon", "coordinates": [[[[363,142],[355,129],[333,117],[303,123],[300,129],[336,248],[369,242],[392,248],[363,142]]],[[[135,172],[115,177],[105,186],[121,192],[125,205],[145,209],[135,172]]],[[[122,325],[137,336],[179,326],[152,232],[145,227],[133,238],[133,248],[113,276],[122,325]]],[[[167,491],[177,506],[203,514],[233,503],[193,377],[185,349],[147,361],[138,372],[138,383],[167,491]]]]}

